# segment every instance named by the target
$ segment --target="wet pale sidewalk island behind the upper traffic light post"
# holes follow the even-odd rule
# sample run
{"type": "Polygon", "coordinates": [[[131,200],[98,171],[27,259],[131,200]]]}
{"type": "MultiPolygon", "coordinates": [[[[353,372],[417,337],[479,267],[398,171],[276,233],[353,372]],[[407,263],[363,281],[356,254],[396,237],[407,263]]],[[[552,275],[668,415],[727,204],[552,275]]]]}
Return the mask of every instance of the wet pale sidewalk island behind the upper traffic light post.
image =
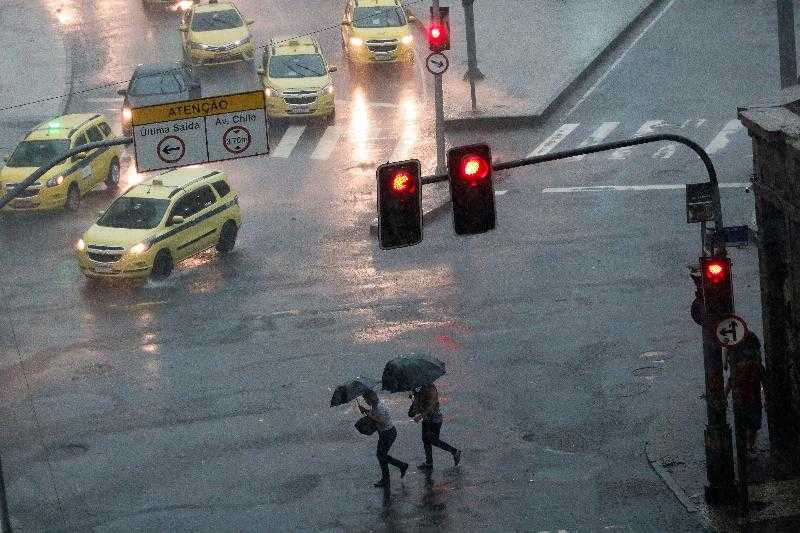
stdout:
{"type": "MultiPolygon", "coordinates": [[[[450,68],[443,75],[445,121],[535,119],[569,89],[654,0],[503,0],[490,9],[475,2],[478,113],[472,112],[467,71],[464,9],[450,7],[450,68]]],[[[409,10],[428,22],[429,2],[409,10]]],[[[424,57],[420,60],[424,61],[424,57]]]]}

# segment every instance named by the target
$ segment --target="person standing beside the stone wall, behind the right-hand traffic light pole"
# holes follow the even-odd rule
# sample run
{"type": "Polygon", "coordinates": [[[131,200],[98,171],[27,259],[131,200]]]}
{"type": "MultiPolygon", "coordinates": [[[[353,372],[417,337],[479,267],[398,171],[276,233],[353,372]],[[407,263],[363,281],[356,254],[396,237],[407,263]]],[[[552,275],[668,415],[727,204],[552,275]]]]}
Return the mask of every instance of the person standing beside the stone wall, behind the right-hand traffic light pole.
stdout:
{"type": "Polygon", "coordinates": [[[761,429],[761,387],[766,370],[761,364],[761,342],[748,332],[741,344],[729,354],[731,373],[725,394],[733,393],[736,424],[745,429],[747,451],[753,452],[761,429]]]}

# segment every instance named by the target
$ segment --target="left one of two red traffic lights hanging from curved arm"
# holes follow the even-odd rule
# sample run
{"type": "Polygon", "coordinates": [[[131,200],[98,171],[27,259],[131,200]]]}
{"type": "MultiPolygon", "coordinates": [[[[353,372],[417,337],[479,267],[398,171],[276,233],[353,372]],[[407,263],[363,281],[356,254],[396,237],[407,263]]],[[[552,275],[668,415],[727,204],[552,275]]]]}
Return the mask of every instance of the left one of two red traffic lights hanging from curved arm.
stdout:
{"type": "Polygon", "coordinates": [[[422,187],[418,159],[378,167],[378,240],[402,248],[422,240],[422,187]]]}

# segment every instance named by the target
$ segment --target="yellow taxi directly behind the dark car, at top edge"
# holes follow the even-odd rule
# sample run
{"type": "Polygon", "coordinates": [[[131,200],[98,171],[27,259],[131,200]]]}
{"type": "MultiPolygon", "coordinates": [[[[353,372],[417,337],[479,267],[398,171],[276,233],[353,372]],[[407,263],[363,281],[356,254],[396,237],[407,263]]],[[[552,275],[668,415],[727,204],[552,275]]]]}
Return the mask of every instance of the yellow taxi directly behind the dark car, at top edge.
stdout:
{"type": "Polygon", "coordinates": [[[183,55],[193,65],[220,65],[255,57],[252,20],[245,20],[233,2],[195,4],[181,18],[183,55]]]}

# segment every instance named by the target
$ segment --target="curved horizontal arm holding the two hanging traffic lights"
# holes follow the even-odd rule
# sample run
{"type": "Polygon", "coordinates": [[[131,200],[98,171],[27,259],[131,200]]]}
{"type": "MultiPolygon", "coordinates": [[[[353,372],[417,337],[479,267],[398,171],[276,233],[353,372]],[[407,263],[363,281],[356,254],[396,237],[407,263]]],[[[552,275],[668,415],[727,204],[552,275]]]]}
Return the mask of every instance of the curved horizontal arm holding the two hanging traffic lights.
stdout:
{"type": "MultiPolygon", "coordinates": [[[[538,163],[545,163],[547,161],[567,159],[569,157],[574,157],[576,155],[593,154],[596,152],[606,152],[608,150],[616,150],[617,148],[624,148],[626,146],[636,146],[638,144],[648,144],[660,141],[673,141],[676,143],[683,144],[691,148],[697,155],[700,156],[700,159],[703,161],[703,164],[706,167],[706,172],[708,172],[708,181],[714,186],[714,190],[716,191],[714,195],[714,203],[715,203],[714,224],[720,231],[722,231],[722,228],[724,226],[722,224],[722,210],[720,209],[717,171],[714,170],[714,163],[711,162],[711,158],[708,157],[708,154],[706,153],[705,150],[703,150],[702,146],[700,146],[693,140],[688,139],[686,137],[682,137],[680,135],[673,135],[671,133],[659,133],[657,135],[643,135],[642,137],[636,137],[635,139],[623,139],[621,141],[595,144],[594,146],[585,146],[583,148],[576,148],[574,150],[565,150],[563,152],[554,152],[551,154],[537,155],[534,157],[526,157],[524,159],[514,159],[511,161],[506,161],[504,163],[492,163],[492,170],[507,170],[511,168],[524,167],[528,165],[536,165],[538,163]]],[[[423,185],[429,183],[438,183],[440,181],[447,181],[447,174],[422,177],[423,185]]]]}

